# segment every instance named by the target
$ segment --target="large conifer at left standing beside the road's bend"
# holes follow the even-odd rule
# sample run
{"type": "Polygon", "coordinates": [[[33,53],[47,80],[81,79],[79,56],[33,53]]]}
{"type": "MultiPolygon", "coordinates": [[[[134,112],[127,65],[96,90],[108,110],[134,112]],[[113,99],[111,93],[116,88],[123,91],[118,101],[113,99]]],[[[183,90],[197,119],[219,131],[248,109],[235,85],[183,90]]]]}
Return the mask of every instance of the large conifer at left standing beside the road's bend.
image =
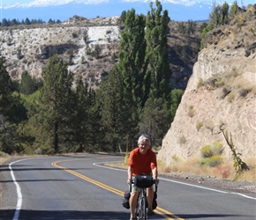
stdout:
{"type": "Polygon", "coordinates": [[[53,147],[54,153],[60,152],[60,146],[70,142],[69,136],[73,119],[73,74],[67,70],[67,64],[53,55],[48,66],[42,70],[43,87],[38,121],[46,135],[46,143],[53,147]]]}

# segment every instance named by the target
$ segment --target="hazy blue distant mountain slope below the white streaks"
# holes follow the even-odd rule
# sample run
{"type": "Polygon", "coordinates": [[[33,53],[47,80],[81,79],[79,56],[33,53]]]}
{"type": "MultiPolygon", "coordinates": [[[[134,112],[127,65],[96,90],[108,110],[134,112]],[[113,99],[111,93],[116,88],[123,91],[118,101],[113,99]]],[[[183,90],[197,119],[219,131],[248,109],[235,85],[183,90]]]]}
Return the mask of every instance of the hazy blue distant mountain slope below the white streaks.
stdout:
{"type": "MultiPolygon", "coordinates": [[[[136,13],[147,15],[148,3],[102,3],[102,4],[63,4],[46,7],[20,8],[13,7],[1,10],[1,18],[6,19],[39,19],[48,22],[49,18],[64,21],[74,15],[85,18],[120,16],[122,11],[135,9],[136,13]]],[[[194,4],[185,6],[182,4],[163,3],[162,9],[169,11],[169,18],[176,21],[206,20],[211,11],[209,4],[194,4]]]]}

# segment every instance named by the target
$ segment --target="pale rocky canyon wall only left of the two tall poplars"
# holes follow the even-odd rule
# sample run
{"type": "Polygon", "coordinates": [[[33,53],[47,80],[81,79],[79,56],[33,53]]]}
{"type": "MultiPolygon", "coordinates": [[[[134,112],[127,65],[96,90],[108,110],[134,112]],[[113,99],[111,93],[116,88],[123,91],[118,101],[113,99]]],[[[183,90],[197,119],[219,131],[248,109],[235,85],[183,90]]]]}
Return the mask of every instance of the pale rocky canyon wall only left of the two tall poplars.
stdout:
{"type": "Polygon", "coordinates": [[[80,18],[74,16],[62,24],[11,26],[1,29],[1,55],[11,78],[19,80],[24,70],[41,77],[41,70],[53,53],[69,63],[75,76],[83,77],[90,86],[100,84],[105,72],[111,70],[118,53],[120,32],[115,18],[80,18]],[[87,42],[84,34],[87,33],[87,42]],[[101,48],[96,59],[89,55],[101,48]]]}

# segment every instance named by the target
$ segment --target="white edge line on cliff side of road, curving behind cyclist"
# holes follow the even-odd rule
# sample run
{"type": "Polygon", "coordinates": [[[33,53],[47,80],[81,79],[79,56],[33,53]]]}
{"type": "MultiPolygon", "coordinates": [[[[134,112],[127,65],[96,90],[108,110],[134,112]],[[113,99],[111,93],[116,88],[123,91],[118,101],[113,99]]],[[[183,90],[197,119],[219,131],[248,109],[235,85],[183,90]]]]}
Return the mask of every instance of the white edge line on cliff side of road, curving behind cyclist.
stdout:
{"type": "MultiPolygon", "coordinates": [[[[113,167],[109,167],[109,166],[106,166],[106,165],[102,165],[102,164],[117,163],[117,162],[123,162],[123,161],[99,162],[99,163],[94,163],[93,165],[96,165],[96,166],[99,166],[99,167],[102,167],[102,168],[106,168],[106,169],[110,169],[110,170],[127,172],[127,171],[125,171],[123,169],[118,169],[118,168],[113,168],[113,167]]],[[[176,181],[176,180],[169,180],[169,179],[165,179],[165,178],[158,178],[158,179],[159,180],[169,181],[169,182],[175,182],[175,183],[182,184],[182,185],[185,185],[185,186],[198,187],[198,188],[202,188],[202,189],[207,189],[207,190],[214,191],[214,192],[221,193],[221,194],[237,194],[237,195],[243,196],[243,197],[245,197],[247,199],[256,200],[256,198],[254,198],[252,196],[249,196],[249,195],[246,195],[246,194],[239,194],[239,193],[235,193],[235,192],[226,192],[226,191],[217,190],[217,189],[209,188],[209,187],[200,187],[200,186],[193,185],[193,184],[190,184],[190,183],[184,183],[184,182],[180,182],[180,181],[176,181]]]]}

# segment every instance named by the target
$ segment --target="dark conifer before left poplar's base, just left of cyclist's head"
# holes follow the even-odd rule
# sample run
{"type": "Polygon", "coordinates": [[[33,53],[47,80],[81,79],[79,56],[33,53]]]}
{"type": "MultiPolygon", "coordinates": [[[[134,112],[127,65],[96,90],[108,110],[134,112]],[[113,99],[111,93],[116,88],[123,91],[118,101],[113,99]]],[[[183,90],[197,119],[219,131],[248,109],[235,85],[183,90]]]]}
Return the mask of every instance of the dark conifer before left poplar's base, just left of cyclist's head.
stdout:
{"type": "Polygon", "coordinates": [[[137,134],[134,118],[137,109],[130,106],[124,98],[123,77],[115,66],[102,81],[97,91],[97,100],[101,106],[102,128],[104,140],[109,145],[109,150],[117,151],[118,146],[124,145],[137,134]],[[132,114],[135,113],[135,114],[132,114]]]}

